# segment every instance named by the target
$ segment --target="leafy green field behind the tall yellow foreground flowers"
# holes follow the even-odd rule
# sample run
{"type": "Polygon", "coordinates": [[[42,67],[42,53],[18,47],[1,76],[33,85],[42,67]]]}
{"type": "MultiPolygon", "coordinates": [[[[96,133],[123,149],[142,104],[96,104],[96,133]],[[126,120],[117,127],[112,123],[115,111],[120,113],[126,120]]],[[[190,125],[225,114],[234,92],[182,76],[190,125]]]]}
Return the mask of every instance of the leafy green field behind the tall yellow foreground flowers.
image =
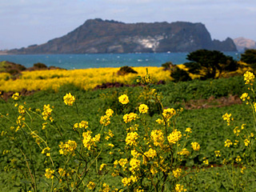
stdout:
{"type": "MultiPolygon", "coordinates": [[[[150,86],[150,89],[153,88],[158,92],[159,98],[162,100],[162,106],[164,108],[174,108],[175,110],[184,107],[185,103],[191,99],[210,98],[210,96],[220,98],[234,94],[240,97],[247,90],[242,77],[206,81],[193,80],[191,82],[178,83],[170,82],[166,85],[150,86]]],[[[251,99],[254,98],[251,96],[251,99]]],[[[162,110],[158,107],[159,104],[152,99],[152,94],[149,94],[149,91],[143,89],[142,86],[94,91],[80,90],[74,86],[63,86],[57,93],[53,90],[43,90],[30,96],[21,97],[18,101],[14,101],[11,98],[7,102],[2,100],[0,102],[0,113],[2,114],[0,119],[0,130],[2,132],[0,140],[0,191],[51,191],[54,190],[52,186],[56,187],[55,191],[90,191],[86,187],[90,180],[96,183],[94,191],[99,191],[100,188],[104,189],[102,186],[103,182],[114,186],[114,188],[118,189],[117,191],[138,191],[140,185],[144,187],[144,191],[178,191],[174,187],[178,183],[183,185],[187,191],[254,191],[256,187],[256,172],[254,170],[255,137],[250,138],[250,147],[246,147],[241,142],[245,138],[239,138],[239,136],[234,134],[234,127],[241,127],[244,123],[246,124],[248,134],[256,134],[253,110],[246,103],[198,110],[185,109],[182,113],[175,116],[175,123],[171,122],[170,127],[175,126],[175,129],[181,131],[182,134],[186,133],[186,128],[190,127],[192,129],[190,137],[180,141],[181,145],[187,144],[190,155],[180,162],[177,160],[178,158],[174,158],[175,163],[171,164],[175,169],[177,167],[182,168],[182,171],[184,171],[182,177],[170,178],[169,174],[169,176],[166,176],[168,179],[162,181],[161,177],[164,177],[162,174],[155,174],[158,176],[152,174],[154,176],[152,179],[156,181],[154,183],[164,186],[163,188],[152,186],[150,179],[146,181],[141,179],[139,180],[140,184],[133,182],[130,186],[124,186],[121,182],[122,178],[128,176],[126,171],[122,172],[122,169],[119,176],[114,178],[111,176],[112,172],[108,169],[102,172],[98,171],[98,166],[102,163],[110,166],[113,165],[114,160],[129,157],[129,150],[126,149],[127,133],[124,127],[132,126],[132,123],[125,124],[122,121],[122,117],[130,112],[139,114],[138,106],[142,103],[149,106],[149,112],[141,115],[141,118],[136,120],[138,121],[136,123],[138,124],[138,134],[140,135],[146,134],[145,127],[150,127],[150,130],[160,129],[158,128],[160,126],[155,121],[158,118],[162,118],[162,110]],[[76,98],[75,105],[66,106],[64,104],[63,96],[67,93],[74,95],[76,98]],[[123,107],[118,102],[118,97],[122,94],[127,94],[130,100],[126,107],[123,107]],[[26,102],[26,105],[24,105],[24,102],[26,102]],[[26,126],[17,132],[10,130],[10,126],[17,126],[16,119],[19,114],[18,107],[14,106],[15,103],[25,106],[28,111],[28,113],[24,114],[26,116],[26,126]],[[51,114],[54,122],[47,120],[46,130],[42,130],[42,123],[45,121],[41,118],[41,113],[43,106],[47,104],[54,106],[51,114]],[[99,121],[109,108],[114,110],[114,116],[110,118],[110,125],[102,128],[99,121]],[[41,112],[38,112],[36,109],[40,109],[41,112]],[[30,111],[33,111],[33,113],[30,111]],[[222,115],[226,113],[232,114],[234,118],[230,126],[227,126],[227,123],[222,119],[222,115]],[[75,132],[73,126],[82,120],[89,123],[87,129],[92,130],[93,133],[97,134],[102,130],[102,135],[106,136],[108,130],[111,130],[114,138],[99,144],[94,153],[90,153],[90,151],[81,152],[84,150],[81,140],[82,132],[80,130],[80,132],[75,132]],[[46,154],[42,154],[42,149],[34,141],[34,138],[31,137],[31,130],[36,130],[37,134],[50,146],[50,155],[53,162],[55,162],[54,166],[52,166],[50,158],[46,154]],[[237,146],[225,147],[226,139],[230,139],[232,142],[237,139],[240,140],[237,146]],[[79,158],[78,154],[74,157],[71,155],[63,158],[58,153],[58,145],[60,145],[60,142],[67,142],[68,140],[76,141],[78,143],[77,150],[80,150],[81,153],[87,153],[83,157],[90,159],[90,161],[86,162],[86,160],[81,158],[82,156],[79,158]],[[114,148],[111,150],[113,154],[109,154],[110,150],[104,146],[104,143],[108,142],[114,144],[114,148]],[[192,150],[190,142],[198,142],[200,150],[192,150]],[[8,150],[7,153],[6,150],[8,150]],[[220,150],[222,156],[217,158],[214,153],[215,150],[220,150]],[[22,154],[21,151],[27,156],[22,154]],[[100,154],[98,155],[97,153],[99,152],[100,154]],[[235,160],[238,156],[242,158],[241,162],[235,160]],[[97,160],[94,161],[95,157],[97,157],[97,160]],[[66,163],[69,158],[69,162],[66,163]],[[226,158],[226,164],[222,163],[224,158],[226,158]],[[207,165],[204,162],[206,159],[209,162],[207,165]],[[80,163],[83,164],[80,165],[80,163]],[[55,179],[56,176],[54,176],[54,179],[45,177],[47,167],[55,169],[55,173],[57,173],[58,168],[64,164],[66,165],[66,171],[68,171],[67,167],[70,167],[70,169],[72,168],[77,171],[75,173],[81,175],[82,170],[80,171],[78,167],[88,164],[91,165],[91,169],[83,180],[79,180],[79,174],[74,174],[71,178],[66,176],[66,178],[62,179],[62,183],[55,179]],[[26,165],[29,165],[30,170],[27,169],[26,165]],[[211,167],[211,165],[214,167],[211,167]],[[243,166],[246,166],[246,170],[242,174],[241,169],[243,166]],[[30,175],[34,176],[31,178],[30,175]],[[36,186],[31,184],[33,183],[33,178],[35,179],[34,183],[36,183],[36,186]],[[82,182],[81,184],[79,182],[73,184],[74,186],[79,184],[78,187],[74,187],[71,184],[72,181],[82,182]]],[[[101,139],[103,140],[103,137],[101,139]]],[[[143,141],[141,142],[143,143],[143,141]]],[[[43,143],[41,145],[43,146],[43,143]]],[[[177,145],[177,149],[178,147],[177,145]]],[[[154,149],[157,150],[158,147],[154,149]]],[[[162,154],[161,151],[159,151],[160,154],[162,154]]],[[[169,158],[167,157],[166,159],[169,158]]],[[[143,169],[146,168],[144,167],[143,169]]],[[[174,169],[171,169],[170,173],[172,170],[174,169]]],[[[158,171],[161,172],[160,170],[158,171]]]]}

